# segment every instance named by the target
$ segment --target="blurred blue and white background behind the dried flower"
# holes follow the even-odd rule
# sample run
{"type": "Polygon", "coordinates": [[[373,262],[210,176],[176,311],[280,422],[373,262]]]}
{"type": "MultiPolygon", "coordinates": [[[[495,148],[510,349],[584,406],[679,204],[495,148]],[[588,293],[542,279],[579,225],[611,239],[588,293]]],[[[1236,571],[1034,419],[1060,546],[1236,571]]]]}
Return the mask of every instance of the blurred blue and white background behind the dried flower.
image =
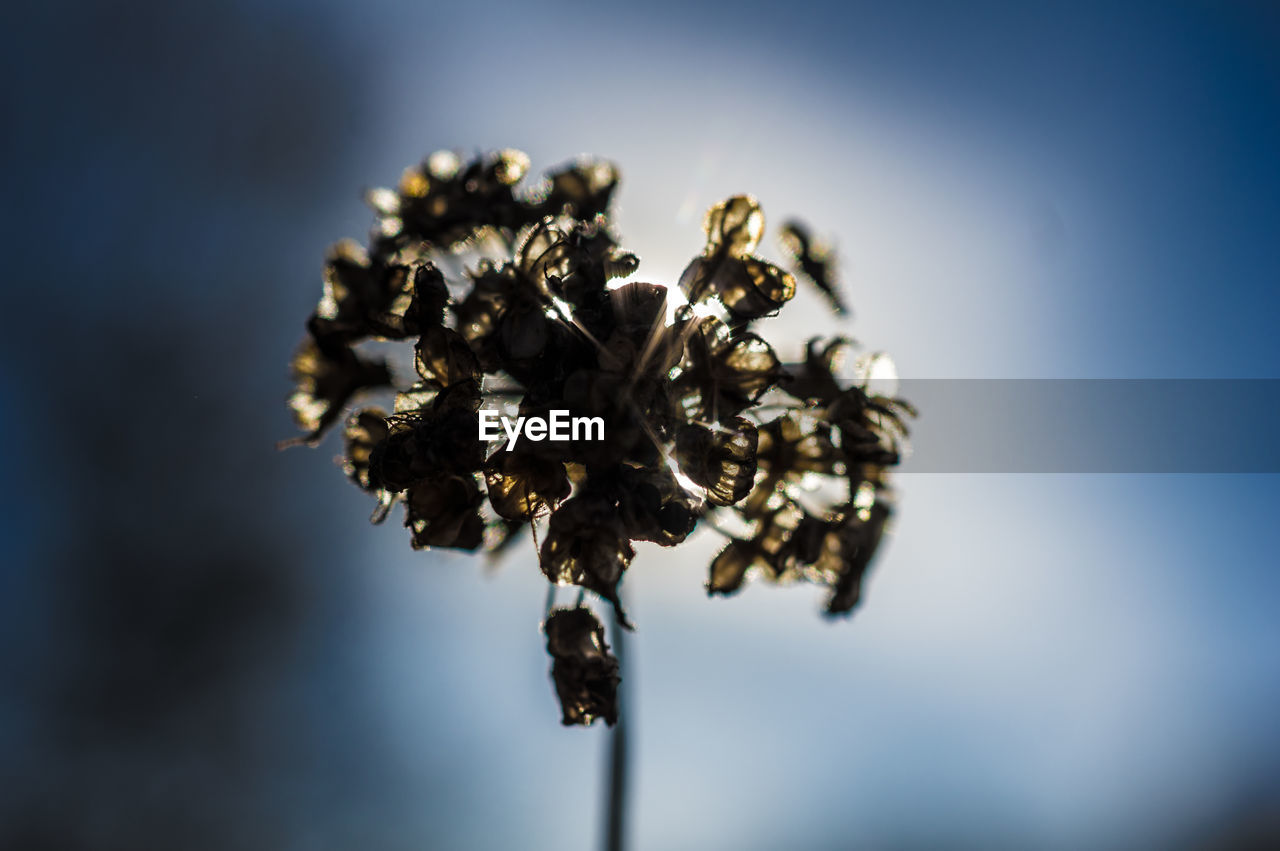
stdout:
{"type": "MultiPolygon", "coordinates": [[[[531,548],[413,553],[293,434],[362,189],[616,160],[672,282],[707,206],[835,241],[904,376],[1280,378],[1274,4],[6,9],[0,846],[585,848],[531,548]]],[[[918,440],[946,439],[923,412],[918,440]]],[[[1019,427],[1009,412],[1009,429],[1019,427]]],[[[1280,843],[1280,479],[900,477],[847,622],[628,572],[634,848],[1280,843]]]]}

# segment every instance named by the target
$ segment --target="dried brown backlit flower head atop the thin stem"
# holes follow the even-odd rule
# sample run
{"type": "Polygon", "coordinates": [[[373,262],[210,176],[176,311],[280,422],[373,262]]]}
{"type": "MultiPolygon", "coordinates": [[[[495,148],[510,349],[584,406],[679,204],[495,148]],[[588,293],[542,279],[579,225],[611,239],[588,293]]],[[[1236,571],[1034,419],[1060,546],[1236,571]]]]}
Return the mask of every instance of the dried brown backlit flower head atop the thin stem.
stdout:
{"type": "MultiPolygon", "coordinates": [[[[527,169],[518,151],[435,154],[369,193],[369,247],[332,251],[293,358],[294,441],[319,441],[357,397],[394,392],[390,412],[357,410],[343,429],[374,522],[403,504],[415,549],[497,550],[530,527],[547,578],[607,600],[627,628],[618,585],[635,541],[675,546],[700,523],[728,537],[709,593],[758,572],[824,584],[827,610],[851,610],[910,407],[838,380],[842,338],[783,365],[753,333],[796,290],[756,255],[754,198],[713,206],[703,252],[663,287],[632,279],[639,258],[609,219],[612,164],[579,160],[524,187],[527,169]],[[369,340],[412,342],[412,383],[394,386],[392,365],[358,351],[369,340]],[[600,417],[605,434],[507,447],[480,439],[481,406],[600,417]]],[[[795,274],[844,312],[831,253],[799,223],[781,237],[795,274]]],[[[564,723],[612,724],[618,665],[599,621],[580,600],[544,630],[564,723]]]]}

